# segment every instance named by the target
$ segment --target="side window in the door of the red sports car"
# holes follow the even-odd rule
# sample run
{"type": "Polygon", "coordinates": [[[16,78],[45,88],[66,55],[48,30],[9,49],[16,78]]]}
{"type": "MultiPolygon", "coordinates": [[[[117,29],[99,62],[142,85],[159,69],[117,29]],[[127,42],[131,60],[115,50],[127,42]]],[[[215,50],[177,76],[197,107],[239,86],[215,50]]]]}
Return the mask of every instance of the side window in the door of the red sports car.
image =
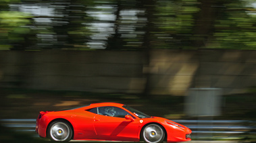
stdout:
{"type": "Polygon", "coordinates": [[[120,109],[119,107],[105,106],[99,107],[99,115],[107,115],[111,117],[124,117],[125,115],[130,115],[127,111],[120,109]]]}

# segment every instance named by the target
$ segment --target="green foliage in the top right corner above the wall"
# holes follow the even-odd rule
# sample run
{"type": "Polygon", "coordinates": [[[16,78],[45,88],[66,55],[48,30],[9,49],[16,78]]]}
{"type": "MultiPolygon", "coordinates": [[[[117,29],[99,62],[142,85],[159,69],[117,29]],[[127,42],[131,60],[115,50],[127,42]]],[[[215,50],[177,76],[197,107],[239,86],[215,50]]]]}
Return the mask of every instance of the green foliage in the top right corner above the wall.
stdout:
{"type": "Polygon", "coordinates": [[[215,34],[208,48],[256,49],[256,28],[254,14],[247,9],[249,1],[228,1],[224,3],[222,15],[215,21],[215,34]]]}

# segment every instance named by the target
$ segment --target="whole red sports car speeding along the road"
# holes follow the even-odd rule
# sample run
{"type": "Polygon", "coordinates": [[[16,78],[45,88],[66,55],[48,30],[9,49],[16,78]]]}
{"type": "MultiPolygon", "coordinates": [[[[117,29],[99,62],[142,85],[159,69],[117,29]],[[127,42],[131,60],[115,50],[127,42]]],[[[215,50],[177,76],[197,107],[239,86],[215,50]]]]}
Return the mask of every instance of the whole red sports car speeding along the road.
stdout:
{"type": "Polygon", "coordinates": [[[117,140],[149,143],[189,141],[191,130],[120,103],[94,103],[63,111],[41,111],[36,132],[53,141],[117,140]]]}

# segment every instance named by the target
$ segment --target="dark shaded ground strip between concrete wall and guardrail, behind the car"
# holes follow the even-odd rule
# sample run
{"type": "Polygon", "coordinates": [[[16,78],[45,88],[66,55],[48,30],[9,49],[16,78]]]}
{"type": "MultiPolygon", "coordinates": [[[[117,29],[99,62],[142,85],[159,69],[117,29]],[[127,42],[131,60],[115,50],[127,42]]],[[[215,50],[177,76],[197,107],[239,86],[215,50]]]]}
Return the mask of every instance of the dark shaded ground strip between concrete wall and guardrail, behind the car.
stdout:
{"type": "MultiPolygon", "coordinates": [[[[147,115],[170,120],[196,119],[184,115],[184,96],[153,95],[152,99],[134,94],[88,93],[80,91],[39,91],[1,89],[1,118],[32,118],[39,111],[58,111],[91,103],[124,103],[147,115]]],[[[222,115],[215,120],[256,120],[255,93],[222,97],[222,115]]]]}

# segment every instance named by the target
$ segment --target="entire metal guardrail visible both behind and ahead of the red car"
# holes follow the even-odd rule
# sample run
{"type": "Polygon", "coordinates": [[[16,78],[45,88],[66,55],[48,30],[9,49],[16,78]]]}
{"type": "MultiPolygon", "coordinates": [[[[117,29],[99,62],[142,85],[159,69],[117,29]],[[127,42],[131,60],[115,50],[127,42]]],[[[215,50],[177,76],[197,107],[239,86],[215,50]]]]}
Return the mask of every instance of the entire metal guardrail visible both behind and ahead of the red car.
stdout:
{"type": "MultiPolygon", "coordinates": [[[[256,136],[256,122],[245,120],[172,120],[192,130],[192,138],[197,139],[241,139],[256,136]]],[[[36,136],[35,119],[1,119],[2,126],[36,136]]],[[[38,136],[36,136],[38,137],[38,136]]]]}

